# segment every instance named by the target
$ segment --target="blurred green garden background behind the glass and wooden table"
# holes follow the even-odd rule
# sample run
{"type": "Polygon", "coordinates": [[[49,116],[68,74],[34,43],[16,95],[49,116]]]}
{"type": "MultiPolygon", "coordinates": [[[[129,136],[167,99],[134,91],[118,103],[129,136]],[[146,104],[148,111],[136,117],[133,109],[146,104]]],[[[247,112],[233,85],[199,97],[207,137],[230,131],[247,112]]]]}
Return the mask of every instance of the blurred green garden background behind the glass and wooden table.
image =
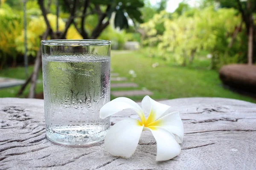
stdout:
{"type": "Polygon", "coordinates": [[[0,0],[0,97],[43,98],[41,40],[111,40],[111,99],[256,102],[256,0],[0,0]]]}

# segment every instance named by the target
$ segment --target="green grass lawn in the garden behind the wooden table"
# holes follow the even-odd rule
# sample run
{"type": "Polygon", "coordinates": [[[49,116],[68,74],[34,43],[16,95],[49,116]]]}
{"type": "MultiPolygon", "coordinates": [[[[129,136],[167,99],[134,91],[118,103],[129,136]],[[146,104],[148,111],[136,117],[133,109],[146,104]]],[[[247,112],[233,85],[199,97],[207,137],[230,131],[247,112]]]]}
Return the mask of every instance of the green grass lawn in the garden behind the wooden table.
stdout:
{"type": "MultiPolygon", "coordinates": [[[[148,57],[147,49],[141,51],[111,51],[111,68],[113,72],[119,73],[120,77],[128,77],[128,82],[135,82],[138,88],[148,89],[154,93],[153,99],[174,99],[181,97],[224,97],[240,99],[248,102],[256,100],[236,94],[222,87],[218,78],[218,72],[209,70],[210,60],[206,57],[195,59],[192,65],[182,67],[175,63],[165,62],[160,58],[148,57]],[[156,68],[152,64],[158,62],[156,68]],[[129,74],[134,70],[137,77],[132,78],[129,74]]],[[[32,66],[29,71],[32,72],[32,66]]],[[[8,68],[0,71],[0,77],[12,77],[25,79],[24,68],[8,68]]],[[[43,91],[42,74],[38,76],[39,83],[36,92],[43,91]]],[[[113,82],[112,82],[113,83],[113,82]]],[[[0,97],[15,97],[19,87],[5,88],[0,90],[0,97]]],[[[111,90],[123,90],[112,88],[111,90]]],[[[25,95],[29,88],[26,88],[25,95]]],[[[133,100],[141,100],[143,96],[130,97],[133,100]]],[[[113,96],[111,96],[113,99],[113,96]]]]}

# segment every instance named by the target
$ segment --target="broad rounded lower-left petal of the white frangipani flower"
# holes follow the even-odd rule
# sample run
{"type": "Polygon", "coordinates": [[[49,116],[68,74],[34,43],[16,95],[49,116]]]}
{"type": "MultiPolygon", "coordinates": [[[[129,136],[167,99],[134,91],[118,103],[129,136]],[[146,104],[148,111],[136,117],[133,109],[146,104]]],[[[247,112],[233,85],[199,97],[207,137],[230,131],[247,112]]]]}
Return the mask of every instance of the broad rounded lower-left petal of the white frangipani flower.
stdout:
{"type": "Polygon", "coordinates": [[[105,136],[105,147],[114,156],[131,157],[139,143],[143,125],[133,118],[117,122],[105,136]]]}

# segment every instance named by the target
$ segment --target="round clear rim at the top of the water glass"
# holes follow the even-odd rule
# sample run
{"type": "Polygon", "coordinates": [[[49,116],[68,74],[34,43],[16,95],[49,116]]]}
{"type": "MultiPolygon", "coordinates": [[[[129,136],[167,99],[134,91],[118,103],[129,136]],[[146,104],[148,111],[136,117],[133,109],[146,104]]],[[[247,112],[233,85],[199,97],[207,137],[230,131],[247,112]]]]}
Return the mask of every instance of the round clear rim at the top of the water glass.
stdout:
{"type": "Polygon", "coordinates": [[[85,40],[85,39],[75,39],[75,40],[41,40],[42,45],[79,45],[79,46],[101,46],[101,45],[110,45],[111,41],[109,40],[85,40]]]}

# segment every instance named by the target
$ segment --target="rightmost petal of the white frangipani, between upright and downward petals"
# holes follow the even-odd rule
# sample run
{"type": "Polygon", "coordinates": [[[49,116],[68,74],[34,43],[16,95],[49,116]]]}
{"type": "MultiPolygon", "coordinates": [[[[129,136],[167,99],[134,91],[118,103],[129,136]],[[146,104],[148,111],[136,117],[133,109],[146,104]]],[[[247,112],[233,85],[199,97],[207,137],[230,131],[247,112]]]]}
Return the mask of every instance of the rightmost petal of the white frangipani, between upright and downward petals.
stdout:
{"type": "Polygon", "coordinates": [[[151,126],[162,127],[174,134],[178,143],[183,142],[184,128],[179,112],[169,113],[148,125],[151,126]]]}

